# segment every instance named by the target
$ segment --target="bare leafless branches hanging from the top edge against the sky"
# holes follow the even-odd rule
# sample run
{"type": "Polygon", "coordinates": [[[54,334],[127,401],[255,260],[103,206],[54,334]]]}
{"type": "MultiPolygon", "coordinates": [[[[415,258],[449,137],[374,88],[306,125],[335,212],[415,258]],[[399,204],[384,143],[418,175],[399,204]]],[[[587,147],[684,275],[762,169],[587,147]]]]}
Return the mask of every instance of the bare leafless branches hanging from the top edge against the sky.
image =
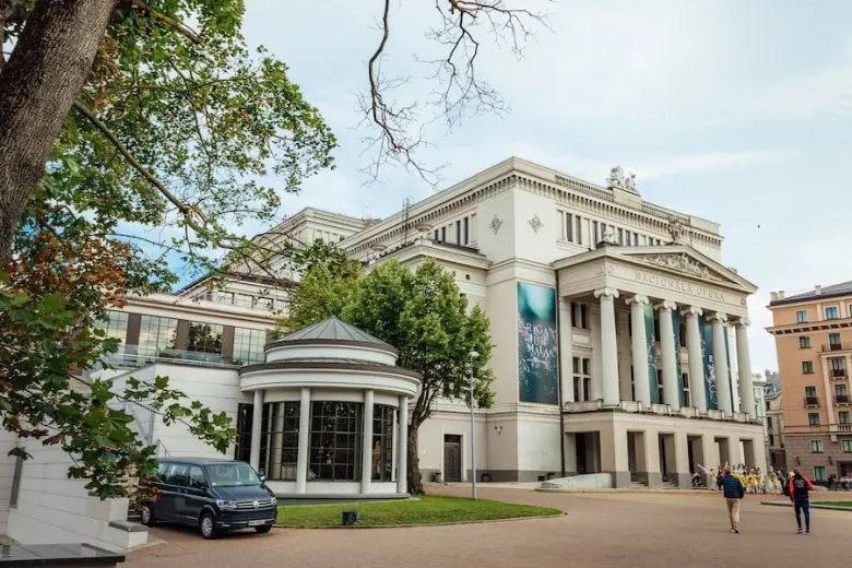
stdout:
{"type": "Polygon", "coordinates": [[[359,98],[362,125],[370,122],[376,130],[375,135],[366,139],[365,149],[365,152],[375,153],[372,163],[365,168],[372,181],[382,166],[395,163],[435,186],[441,168],[429,169],[415,156],[418,150],[429,145],[424,138],[425,128],[438,119],[452,129],[464,117],[508,113],[499,93],[476,74],[476,62],[483,48],[481,35],[490,36],[497,46],[508,45],[516,57],[521,57],[528,40],[533,37],[530,26],[537,24],[549,28],[546,13],[510,8],[509,1],[435,0],[440,25],[426,35],[446,46],[447,55],[418,61],[434,68],[424,79],[440,88],[421,105],[416,102],[397,105],[390,102],[390,93],[409,80],[388,79],[382,74],[381,60],[388,50],[391,27],[390,0],[384,0],[381,38],[367,64],[369,94],[362,94],[359,98]],[[424,117],[424,109],[431,109],[434,114],[424,117]]]}

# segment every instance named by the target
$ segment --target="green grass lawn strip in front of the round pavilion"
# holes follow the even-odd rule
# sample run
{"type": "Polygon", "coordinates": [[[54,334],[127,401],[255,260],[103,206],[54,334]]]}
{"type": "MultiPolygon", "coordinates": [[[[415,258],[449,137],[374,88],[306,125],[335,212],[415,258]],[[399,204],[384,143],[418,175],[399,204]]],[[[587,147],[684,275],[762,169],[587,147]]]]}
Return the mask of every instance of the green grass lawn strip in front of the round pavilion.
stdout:
{"type": "Polygon", "coordinates": [[[343,510],[357,509],[362,526],[388,524],[435,524],[516,517],[561,514],[559,509],[461,497],[422,496],[417,500],[348,505],[298,505],[279,507],[277,524],[286,526],[334,526],[343,510]]]}

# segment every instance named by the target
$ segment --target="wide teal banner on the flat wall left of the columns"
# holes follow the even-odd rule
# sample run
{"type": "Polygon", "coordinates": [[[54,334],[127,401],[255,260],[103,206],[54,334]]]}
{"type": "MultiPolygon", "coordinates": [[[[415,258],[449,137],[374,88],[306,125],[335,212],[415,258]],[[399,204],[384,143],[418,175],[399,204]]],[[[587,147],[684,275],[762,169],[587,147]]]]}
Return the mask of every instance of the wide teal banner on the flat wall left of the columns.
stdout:
{"type": "Polygon", "coordinates": [[[518,282],[518,381],[521,402],[558,404],[556,291],[518,282]]]}

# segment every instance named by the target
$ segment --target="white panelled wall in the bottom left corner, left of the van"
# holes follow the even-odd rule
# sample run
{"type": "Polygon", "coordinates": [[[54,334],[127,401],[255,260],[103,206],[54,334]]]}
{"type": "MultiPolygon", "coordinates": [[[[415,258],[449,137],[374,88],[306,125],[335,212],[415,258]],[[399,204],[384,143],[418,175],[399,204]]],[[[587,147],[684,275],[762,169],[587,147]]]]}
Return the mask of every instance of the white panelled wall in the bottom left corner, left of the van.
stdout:
{"type": "Polygon", "coordinates": [[[21,544],[88,543],[113,551],[147,541],[147,532],[109,526],[127,520],[128,499],[91,497],[85,481],[68,478],[72,461],[60,447],[29,441],[26,450],[32,458],[23,462],[17,506],[9,510],[10,539],[21,544]]]}

